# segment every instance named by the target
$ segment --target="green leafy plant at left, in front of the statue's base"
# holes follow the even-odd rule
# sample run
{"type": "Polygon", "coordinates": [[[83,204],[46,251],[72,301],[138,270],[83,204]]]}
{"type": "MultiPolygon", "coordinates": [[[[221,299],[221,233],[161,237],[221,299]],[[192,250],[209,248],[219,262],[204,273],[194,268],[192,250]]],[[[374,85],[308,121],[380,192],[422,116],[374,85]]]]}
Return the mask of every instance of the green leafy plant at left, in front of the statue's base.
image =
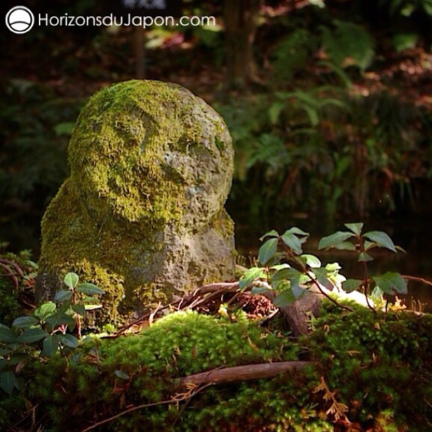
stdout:
{"type": "Polygon", "coordinates": [[[30,359],[57,352],[67,355],[78,347],[81,318],[85,311],[102,307],[95,295],[104,294],[95,284],[78,281],[76,273],[68,273],[64,277],[68,289],[57,292],[54,301],[16,318],[10,328],[0,324],[0,388],[6,393],[23,388],[19,374],[30,359]]]}

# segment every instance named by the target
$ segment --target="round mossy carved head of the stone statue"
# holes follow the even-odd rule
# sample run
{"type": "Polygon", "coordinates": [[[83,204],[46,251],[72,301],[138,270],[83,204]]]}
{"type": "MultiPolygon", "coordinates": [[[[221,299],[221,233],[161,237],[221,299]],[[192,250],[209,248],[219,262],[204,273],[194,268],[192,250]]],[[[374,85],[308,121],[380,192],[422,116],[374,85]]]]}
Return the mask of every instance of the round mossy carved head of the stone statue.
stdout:
{"type": "Polygon", "coordinates": [[[200,224],[218,212],[234,152],[221,117],[178,85],[128,81],[101,90],[71,138],[71,178],[95,217],[200,224]]]}

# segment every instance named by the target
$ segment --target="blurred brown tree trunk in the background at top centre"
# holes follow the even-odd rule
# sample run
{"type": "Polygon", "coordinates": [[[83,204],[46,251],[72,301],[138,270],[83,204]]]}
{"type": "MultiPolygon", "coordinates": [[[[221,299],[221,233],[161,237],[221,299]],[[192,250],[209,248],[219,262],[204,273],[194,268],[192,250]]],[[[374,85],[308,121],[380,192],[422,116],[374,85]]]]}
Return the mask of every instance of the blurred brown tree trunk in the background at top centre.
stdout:
{"type": "Polygon", "coordinates": [[[258,80],[253,59],[262,0],[224,0],[227,71],[224,90],[244,88],[258,80]]]}

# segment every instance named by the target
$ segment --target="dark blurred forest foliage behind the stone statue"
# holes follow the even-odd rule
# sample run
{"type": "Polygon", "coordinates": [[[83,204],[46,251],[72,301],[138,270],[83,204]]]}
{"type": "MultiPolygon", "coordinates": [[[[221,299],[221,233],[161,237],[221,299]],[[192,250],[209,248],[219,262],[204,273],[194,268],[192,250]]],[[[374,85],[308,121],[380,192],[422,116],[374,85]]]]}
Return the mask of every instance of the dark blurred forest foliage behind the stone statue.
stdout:
{"type": "MultiPolygon", "coordinates": [[[[428,219],[431,0],[182,5],[217,25],[146,29],[145,76],[185,85],[224,117],[236,150],[228,206],[239,229],[258,224],[262,234],[278,217],[428,219]]],[[[57,16],[107,11],[95,0],[25,6],[57,16]]],[[[0,239],[16,250],[38,250],[80,107],[101,86],[136,77],[137,34],[1,33],[0,239]]]]}

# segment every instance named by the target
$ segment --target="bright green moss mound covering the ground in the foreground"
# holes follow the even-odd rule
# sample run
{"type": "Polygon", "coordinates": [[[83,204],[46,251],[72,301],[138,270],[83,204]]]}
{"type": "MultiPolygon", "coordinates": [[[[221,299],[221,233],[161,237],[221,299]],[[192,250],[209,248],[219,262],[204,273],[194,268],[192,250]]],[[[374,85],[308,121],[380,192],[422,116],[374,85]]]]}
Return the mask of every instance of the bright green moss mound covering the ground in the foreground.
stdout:
{"type": "MultiPolygon", "coordinates": [[[[424,431],[431,425],[430,315],[384,316],[364,308],[345,314],[324,304],[311,325],[311,335],[290,340],[254,323],[173,313],[138,335],[84,344],[79,358],[34,364],[15,397],[22,412],[36,407],[40,424],[56,431],[114,416],[96,430],[424,431]],[[191,390],[179,393],[183,376],[296,359],[314,363],[179,400],[191,390]]],[[[0,402],[7,406],[11,398],[0,402]]]]}

